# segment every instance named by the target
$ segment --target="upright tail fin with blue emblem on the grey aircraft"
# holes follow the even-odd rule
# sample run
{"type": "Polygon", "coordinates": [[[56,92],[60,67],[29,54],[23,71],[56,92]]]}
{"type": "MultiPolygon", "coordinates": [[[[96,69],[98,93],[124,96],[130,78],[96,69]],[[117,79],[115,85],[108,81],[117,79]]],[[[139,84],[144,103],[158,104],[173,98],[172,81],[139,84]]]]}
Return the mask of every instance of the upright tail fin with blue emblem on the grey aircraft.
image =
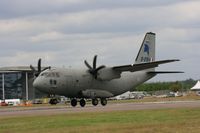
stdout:
{"type": "Polygon", "coordinates": [[[155,33],[146,33],[137,58],[135,59],[135,64],[155,61],[155,38],[155,33]]]}

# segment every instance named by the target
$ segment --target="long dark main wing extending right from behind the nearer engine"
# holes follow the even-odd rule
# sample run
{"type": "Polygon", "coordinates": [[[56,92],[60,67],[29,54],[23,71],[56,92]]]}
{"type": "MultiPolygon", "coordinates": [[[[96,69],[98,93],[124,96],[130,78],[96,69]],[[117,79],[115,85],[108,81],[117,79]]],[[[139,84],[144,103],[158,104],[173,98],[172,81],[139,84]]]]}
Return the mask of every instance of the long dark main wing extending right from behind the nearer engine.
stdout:
{"type": "Polygon", "coordinates": [[[160,64],[170,63],[174,61],[180,61],[180,60],[177,60],[177,59],[161,60],[161,61],[139,63],[139,64],[133,64],[133,65],[115,66],[112,69],[118,72],[124,72],[124,71],[135,72],[135,71],[142,71],[149,68],[155,68],[155,67],[158,67],[160,64]]]}

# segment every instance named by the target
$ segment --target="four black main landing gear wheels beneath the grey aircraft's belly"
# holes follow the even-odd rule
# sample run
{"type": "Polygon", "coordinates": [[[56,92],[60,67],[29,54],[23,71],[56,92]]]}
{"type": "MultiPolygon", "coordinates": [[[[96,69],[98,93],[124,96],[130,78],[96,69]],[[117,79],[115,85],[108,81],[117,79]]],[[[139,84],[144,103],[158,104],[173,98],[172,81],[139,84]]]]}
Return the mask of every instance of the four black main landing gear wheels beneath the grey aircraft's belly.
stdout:
{"type": "MultiPolygon", "coordinates": [[[[101,98],[100,101],[101,101],[101,105],[102,105],[102,106],[105,106],[105,105],[107,104],[107,99],[106,99],[106,98],[101,98]]],[[[72,107],[76,107],[76,106],[77,106],[77,103],[78,103],[78,101],[77,101],[76,98],[71,99],[71,106],[72,106],[72,107]]],[[[98,103],[99,103],[99,100],[98,100],[97,98],[93,98],[93,99],[92,99],[92,105],[93,105],[93,106],[97,106],[98,103]]],[[[85,107],[85,105],[86,105],[85,99],[83,99],[83,98],[80,99],[80,100],[79,100],[79,104],[80,104],[81,107],[85,107]]]]}

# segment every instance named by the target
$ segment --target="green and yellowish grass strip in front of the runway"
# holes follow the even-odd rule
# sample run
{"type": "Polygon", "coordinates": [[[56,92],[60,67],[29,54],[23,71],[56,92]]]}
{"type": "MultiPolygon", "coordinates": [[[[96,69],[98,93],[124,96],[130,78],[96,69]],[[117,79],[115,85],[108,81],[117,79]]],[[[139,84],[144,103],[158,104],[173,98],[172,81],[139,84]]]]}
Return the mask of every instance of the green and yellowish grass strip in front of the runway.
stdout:
{"type": "Polygon", "coordinates": [[[0,118],[0,133],[199,133],[200,108],[0,118]]]}

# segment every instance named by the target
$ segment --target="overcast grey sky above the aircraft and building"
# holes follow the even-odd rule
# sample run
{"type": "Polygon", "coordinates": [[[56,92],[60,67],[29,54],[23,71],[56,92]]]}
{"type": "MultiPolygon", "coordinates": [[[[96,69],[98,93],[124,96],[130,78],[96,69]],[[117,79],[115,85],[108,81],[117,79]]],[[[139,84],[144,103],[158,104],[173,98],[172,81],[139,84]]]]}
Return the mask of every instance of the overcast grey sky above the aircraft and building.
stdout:
{"type": "Polygon", "coordinates": [[[199,0],[1,0],[0,66],[86,68],[132,64],[146,32],[156,33],[156,59],[181,59],[151,81],[200,79],[199,0]]]}

